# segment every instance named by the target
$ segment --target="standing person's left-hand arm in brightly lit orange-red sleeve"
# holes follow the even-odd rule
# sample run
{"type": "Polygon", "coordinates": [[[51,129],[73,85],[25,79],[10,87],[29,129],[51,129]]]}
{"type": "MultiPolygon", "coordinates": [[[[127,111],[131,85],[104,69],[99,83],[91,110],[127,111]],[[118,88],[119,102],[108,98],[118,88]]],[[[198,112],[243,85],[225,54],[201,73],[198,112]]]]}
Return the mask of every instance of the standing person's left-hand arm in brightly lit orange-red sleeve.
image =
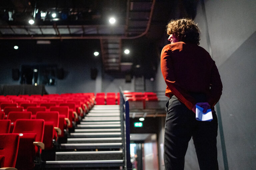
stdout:
{"type": "Polygon", "coordinates": [[[171,60],[171,49],[168,45],[166,45],[161,52],[161,70],[164,76],[164,80],[166,85],[172,91],[172,93],[186,105],[189,110],[192,110],[194,105],[196,104],[195,99],[189,94],[185,93],[183,89],[181,89],[176,81],[173,73],[172,60],[171,60]]]}

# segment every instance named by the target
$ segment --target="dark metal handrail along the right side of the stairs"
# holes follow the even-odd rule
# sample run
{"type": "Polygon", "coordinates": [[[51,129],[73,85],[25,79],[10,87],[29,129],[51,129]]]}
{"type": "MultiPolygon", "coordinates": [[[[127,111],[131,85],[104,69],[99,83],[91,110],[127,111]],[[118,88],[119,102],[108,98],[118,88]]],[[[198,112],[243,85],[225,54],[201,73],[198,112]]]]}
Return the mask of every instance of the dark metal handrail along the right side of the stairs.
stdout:
{"type": "Polygon", "coordinates": [[[131,155],[130,155],[130,116],[129,116],[129,102],[126,99],[123,90],[120,89],[120,113],[121,113],[121,130],[123,134],[124,143],[124,158],[126,169],[132,168],[131,155]]]}

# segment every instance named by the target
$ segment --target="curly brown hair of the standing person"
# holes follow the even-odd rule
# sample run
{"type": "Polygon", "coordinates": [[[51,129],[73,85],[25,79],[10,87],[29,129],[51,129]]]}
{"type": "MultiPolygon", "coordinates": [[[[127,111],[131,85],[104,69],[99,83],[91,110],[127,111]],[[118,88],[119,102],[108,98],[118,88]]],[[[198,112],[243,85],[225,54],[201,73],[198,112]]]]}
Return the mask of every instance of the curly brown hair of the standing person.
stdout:
{"type": "Polygon", "coordinates": [[[171,20],[167,28],[167,34],[173,34],[178,41],[199,45],[200,30],[192,19],[182,18],[171,20]]]}

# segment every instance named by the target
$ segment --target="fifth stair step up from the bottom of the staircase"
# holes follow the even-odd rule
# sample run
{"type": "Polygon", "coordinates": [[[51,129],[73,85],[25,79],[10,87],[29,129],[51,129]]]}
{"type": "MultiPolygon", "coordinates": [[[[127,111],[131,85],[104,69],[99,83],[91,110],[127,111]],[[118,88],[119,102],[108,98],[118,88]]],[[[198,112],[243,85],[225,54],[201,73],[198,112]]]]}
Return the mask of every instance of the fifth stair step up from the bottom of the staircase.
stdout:
{"type": "Polygon", "coordinates": [[[121,132],[93,132],[93,133],[70,133],[70,137],[115,137],[121,136],[121,132]]]}

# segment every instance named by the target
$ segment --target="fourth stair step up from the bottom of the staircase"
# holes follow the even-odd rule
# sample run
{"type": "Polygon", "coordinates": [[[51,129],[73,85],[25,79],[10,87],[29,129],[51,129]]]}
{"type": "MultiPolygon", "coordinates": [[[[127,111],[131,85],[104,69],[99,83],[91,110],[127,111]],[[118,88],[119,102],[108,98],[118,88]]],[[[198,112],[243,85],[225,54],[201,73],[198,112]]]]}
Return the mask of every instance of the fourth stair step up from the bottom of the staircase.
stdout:
{"type": "Polygon", "coordinates": [[[118,143],[122,137],[68,138],[68,143],[118,143]]]}

